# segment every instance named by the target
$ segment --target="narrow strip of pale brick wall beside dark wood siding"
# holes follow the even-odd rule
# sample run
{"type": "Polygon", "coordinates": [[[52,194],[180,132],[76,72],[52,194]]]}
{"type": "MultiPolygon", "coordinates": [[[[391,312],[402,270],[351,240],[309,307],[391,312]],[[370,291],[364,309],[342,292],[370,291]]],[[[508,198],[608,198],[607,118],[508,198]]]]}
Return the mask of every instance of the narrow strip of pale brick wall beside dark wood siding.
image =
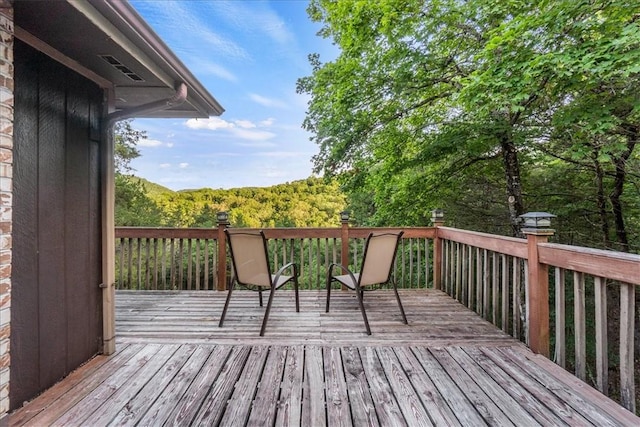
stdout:
{"type": "Polygon", "coordinates": [[[0,423],[9,411],[12,171],[13,7],[0,0],[0,423]]]}

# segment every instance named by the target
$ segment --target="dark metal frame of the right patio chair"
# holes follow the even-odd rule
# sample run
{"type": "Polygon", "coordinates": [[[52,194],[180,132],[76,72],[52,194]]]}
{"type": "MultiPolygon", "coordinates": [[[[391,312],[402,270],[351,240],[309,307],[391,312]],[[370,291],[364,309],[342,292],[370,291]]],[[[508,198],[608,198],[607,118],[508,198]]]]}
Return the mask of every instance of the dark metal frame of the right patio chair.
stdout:
{"type": "MultiPolygon", "coordinates": [[[[402,238],[403,233],[404,233],[403,231],[399,233],[380,233],[380,234],[370,233],[365,242],[364,254],[362,255],[362,264],[360,265],[359,273],[352,272],[351,270],[349,270],[349,268],[347,268],[346,266],[340,263],[332,263],[329,266],[329,270],[327,272],[327,305],[325,309],[326,313],[329,312],[329,303],[331,299],[331,285],[333,284],[333,282],[338,282],[341,285],[344,285],[351,290],[355,290],[358,296],[358,304],[360,305],[360,312],[362,313],[362,318],[364,320],[364,325],[367,331],[367,335],[371,335],[371,328],[369,327],[369,319],[367,318],[367,312],[364,309],[364,291],[370,290],[367,288],[372,285],[384,285],[384,284],[391,283],[393,285],[393,291],[395,292],[395,295],[396,295],[396,300],[398,301],[398,306],[400,307],[400,314],[402,316],[402,321],[405,325],[408,324],[407,316],[405,315],[404,308],[402,307],[402,302],[400,301],[400,295],[398,294],[398,286],[396,284],[395,279],[393,278],[393,265],[395,263],[396,253],[398,251],[398,244],[400,243],[400,239],[402,238]],[[391,262],[389,264],[389,272],[387,273],[386,280],[377,281],[374,283],[362,283],[362,278],[366,277],[366,275],[362,273],[367,272],[367,270],[365,270],[367,269],[367,261],[371,259],[371,257],[367,257],[367,255],[370,255],[369,250],[370,250],[371,241],[376,238],[389,236],[389,235],[396,237],[396,243],[393,249],[393,254],[390,254],[391,262]],[[335,267],[340,268],[342,272],[346,274],[334,275],[333,271],[335,267]]],[[[370,268],[371,267],[369,267],[369,269],[370,268]]]]}

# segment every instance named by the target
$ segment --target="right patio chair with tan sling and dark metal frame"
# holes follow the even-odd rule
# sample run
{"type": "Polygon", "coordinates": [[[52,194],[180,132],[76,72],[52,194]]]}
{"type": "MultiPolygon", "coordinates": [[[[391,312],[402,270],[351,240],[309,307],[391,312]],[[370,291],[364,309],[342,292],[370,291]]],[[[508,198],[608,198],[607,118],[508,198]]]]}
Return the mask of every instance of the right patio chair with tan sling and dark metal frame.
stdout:
{"type": "Polygon", "coordinates": [[[392,274],[393,262],[402,234],[402,231],[400,233],[369,234],[364,245],[364,254],[362,256],[359,273],[354,273],[344,265],[338,263],[333,263],[329,266],[329,271],[327,272],[327,313],[329,312],[329,302],[331,299],[331,285],[333,282],[338,282],[356,291],[367,335],[371,335],[369,320],[367,319],[367,313],[364,309],[364,291],[371,290],[374,285],[391,283],[393,285],[393,291],[396,294],[398,306],[400,307],[402,321],[405,325],[407,324],[407,316],[404,314],[404,308],[402,307],[400,295],[398,294],[398,287],[392,274]],[[335,267],[338,267],[341,273],[346,274],[334,275],[333,271],[335,267]]]}

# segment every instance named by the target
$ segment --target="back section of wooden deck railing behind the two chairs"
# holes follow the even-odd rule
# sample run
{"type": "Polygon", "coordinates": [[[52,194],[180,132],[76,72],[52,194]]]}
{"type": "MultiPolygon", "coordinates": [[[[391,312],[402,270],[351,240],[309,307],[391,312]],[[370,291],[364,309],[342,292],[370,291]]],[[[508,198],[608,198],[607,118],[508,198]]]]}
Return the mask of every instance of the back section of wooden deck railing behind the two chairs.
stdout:
{"type": "MultiPolygon", "coordinates": [[[[262,230],[269,242],[272,271],[295,261],[299,265],[301,288],[322,289],[329,264],[340,262],[357,268],[366,237],[379,229],[351,228],[345,224],[342,228],[262,230]]],[[[430,241],[435,229],[403,230],[394,265],[396,281],[404,288],[431,286],[430,241]]],[[[219,229],[117,227],[116,288],[224,290],[231,277],[224,240],[225,235],[219,229]]]]}

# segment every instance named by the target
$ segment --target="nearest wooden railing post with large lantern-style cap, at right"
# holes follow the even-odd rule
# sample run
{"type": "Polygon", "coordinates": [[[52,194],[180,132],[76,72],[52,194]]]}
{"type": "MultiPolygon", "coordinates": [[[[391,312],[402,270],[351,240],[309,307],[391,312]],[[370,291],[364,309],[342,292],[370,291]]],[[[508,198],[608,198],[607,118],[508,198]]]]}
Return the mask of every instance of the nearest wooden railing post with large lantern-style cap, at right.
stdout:
{"type": "Polygon", "coordinates": [[[538,244],[546,243],[555,230],[547,228],[554,215],[545,212],[531,212],[521,215],[527,236],[528,283],[527,312],[529,347],[534,353],[547,358],[549,351],[549,267],[538,258],[538,244]]]}

